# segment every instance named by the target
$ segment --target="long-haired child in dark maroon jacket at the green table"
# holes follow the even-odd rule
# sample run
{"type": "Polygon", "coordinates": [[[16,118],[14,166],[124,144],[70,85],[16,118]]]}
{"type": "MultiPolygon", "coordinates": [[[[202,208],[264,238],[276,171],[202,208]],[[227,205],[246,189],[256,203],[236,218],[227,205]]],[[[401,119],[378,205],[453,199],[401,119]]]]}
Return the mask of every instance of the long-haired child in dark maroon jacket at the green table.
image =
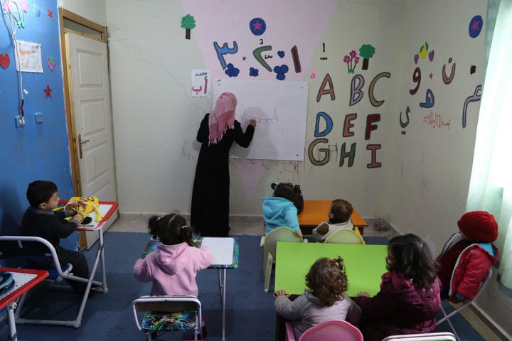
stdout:
{"type": "Polygon", "coordinates": [[[368,297],[361,292],[354,298],[363,310],[360,329],[364,340],[434,332],[441,308],[441,282],[428,245],[415,234],[393,237],[388,243],[386,269],[377,295],[368,297]]]}

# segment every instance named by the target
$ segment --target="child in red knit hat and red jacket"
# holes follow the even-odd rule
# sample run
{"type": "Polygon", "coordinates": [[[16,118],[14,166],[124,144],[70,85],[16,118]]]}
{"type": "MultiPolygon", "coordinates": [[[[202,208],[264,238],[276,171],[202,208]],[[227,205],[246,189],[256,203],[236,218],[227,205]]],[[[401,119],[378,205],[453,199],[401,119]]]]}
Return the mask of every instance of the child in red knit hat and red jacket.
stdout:
{"type": "Polygon", "coordinates": [[[462,215],[455,233],[437,257],[437,276],[442,282],[441,298],[454,303],[474,298],[489,268],[499,258],[493,242],[498,238],[498,224],[485,211],[462,215]]]}

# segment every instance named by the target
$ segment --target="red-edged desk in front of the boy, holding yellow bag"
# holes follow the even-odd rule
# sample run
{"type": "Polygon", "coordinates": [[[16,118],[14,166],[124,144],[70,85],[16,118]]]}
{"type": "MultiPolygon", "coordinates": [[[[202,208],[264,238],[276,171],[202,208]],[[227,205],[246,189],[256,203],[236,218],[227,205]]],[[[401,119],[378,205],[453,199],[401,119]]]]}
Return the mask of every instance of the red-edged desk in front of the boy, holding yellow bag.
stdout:
{"type": "MultiPolygon", "coordinates": [[[[61,203],[68,203],[68,200],[60,200],[61,203]]],[[[117,207],[119,206],[118,202],[115,201],[100,201],[100,206],[98,207],[98,210],[100,210],[100,213],[103,215],[102,220],[100,222],[96,222],[97,213],[95,211],[89,212],[87,215],[91,217],[92,221],[87,225],[78,225],[77,231],[97,231],[99,242],[98,242],[98,248],[96,251],[96,258],[94,266],[92,266],[90,278],[89,278],[89,287],[92,286],[92,284],[95,284],[97,286],[101,286],[102,292],[107,293],[107,271],[105,270],[105,245],[103,243],[103,225],[112,217],[112,214],[117,210],[117,207]],[[102,281],[93,281],[92,278],[94,278],[97,265],[101,261],[101,268],[102,268],[102,281]]],[[[87,289],[88,289],[87,288],[87,289]]],[[[87,299],[87,298],[85,298],[87,299]]]]}

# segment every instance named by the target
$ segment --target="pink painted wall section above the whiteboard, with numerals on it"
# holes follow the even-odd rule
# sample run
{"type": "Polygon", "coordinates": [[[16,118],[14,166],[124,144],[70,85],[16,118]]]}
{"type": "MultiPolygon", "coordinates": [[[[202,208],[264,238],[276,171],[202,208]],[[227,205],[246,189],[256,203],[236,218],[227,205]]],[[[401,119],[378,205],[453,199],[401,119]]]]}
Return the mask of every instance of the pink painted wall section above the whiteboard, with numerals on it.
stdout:
{"type": "MultiPolygon", "coordinates": [[[[338,0],[182,0],[214,78],[304,80],[338,0]],[[255,52],[256,51],[256,52],[255,52]],[[258,57],[255,57],[255,54],[258,57]]],[[[183,33],[185,34],[185,33],[183,33]]]]}

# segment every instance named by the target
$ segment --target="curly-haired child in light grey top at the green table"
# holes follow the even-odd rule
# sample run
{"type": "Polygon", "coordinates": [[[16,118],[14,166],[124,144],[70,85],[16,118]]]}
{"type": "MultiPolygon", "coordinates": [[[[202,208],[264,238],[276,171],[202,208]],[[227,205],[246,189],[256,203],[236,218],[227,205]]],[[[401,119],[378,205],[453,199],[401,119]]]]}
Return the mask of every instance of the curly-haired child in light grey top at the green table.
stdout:
{"type": "Polygon", "coordinates": [[[346,320],[357,325],[361,309],[346,295],[348,280],[343,259],[317,259],[306,275],[306,289],[294,301],[284,290],[274,293],[274,305],[283,318],[293,320],[295,340],[307,329],[326,320],[346,320]]]}

